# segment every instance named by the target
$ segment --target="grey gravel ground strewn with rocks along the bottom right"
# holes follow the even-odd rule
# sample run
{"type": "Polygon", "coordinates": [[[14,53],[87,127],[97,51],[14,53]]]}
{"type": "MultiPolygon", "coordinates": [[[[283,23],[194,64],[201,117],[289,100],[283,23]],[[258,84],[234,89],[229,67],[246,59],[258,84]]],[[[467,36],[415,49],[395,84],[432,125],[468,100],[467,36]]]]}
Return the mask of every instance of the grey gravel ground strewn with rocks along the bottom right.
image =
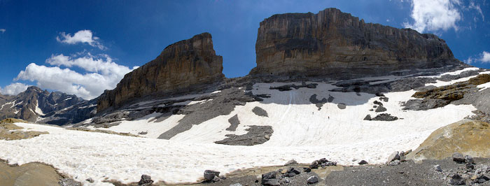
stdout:
{"type": "MultiPolygon", "coordinates": [[[[401,154],[401,152],[400,152],[401,154]]],[[[325,169],[301,171],[301,167],[259,167],[238,171],[226,180],[199,185],[264,185],[264,179],[273,179],[280,185],[309,185],[308,179],[316,176],[318,183],[312,185],[489,185],[486,178],[490,174],[490,159],[475,158],[475,169],[467,169],[465,164],[458,164],[451,158],[440,160],[423,160],[401,162],[398,166],[365,165],[365,166],[327,166],[325,169]],[[435,169],[437,167],[437,169],[435,169]],[[299,170],[299,174],[288,177],[289,170],[299,170]],[[458,176],[454,176],[454,175],[458,176]],[[263,179],[262,179],[263,178],[263,179]],[[456,179],[454,179],[456,178],[456,179]],[[454,179],[454,180],[453,180],[454,179]]],[[[314,178],[311,178],[314,180],[314,178]]]]}

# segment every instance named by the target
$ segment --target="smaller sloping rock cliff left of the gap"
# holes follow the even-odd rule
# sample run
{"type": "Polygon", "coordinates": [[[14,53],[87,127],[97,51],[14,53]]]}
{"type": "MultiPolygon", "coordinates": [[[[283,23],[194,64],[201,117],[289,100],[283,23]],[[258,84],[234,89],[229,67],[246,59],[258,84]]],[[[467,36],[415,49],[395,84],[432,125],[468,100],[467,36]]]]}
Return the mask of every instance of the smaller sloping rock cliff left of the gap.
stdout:
{"type": "Polygon", "coordinates": [[[211,34],[202,33],[167,46],[156,59],[127,73],[116,89],[102,94],[97,112],[143,96],[197,91],[223,80],[222,71],[223,58],[216,55],[211,34]]]}

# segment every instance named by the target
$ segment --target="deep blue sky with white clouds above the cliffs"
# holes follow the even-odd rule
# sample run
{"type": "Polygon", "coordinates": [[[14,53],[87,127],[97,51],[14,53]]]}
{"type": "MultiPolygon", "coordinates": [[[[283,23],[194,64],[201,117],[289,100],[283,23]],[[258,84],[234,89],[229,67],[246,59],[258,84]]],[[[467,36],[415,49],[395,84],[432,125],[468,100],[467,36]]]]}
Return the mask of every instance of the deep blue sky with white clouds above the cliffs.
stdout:
{"type": "Polygon", "coordinates": [[[437,34],[456,58],[490,68],[490,0],[0,0],[0,92],[36,85],[91,99],[167,45],[204,31],[223,56],[225,76],[245,76],[255,66],[262,20],[330,7],[366,22],[437,34]]]}

